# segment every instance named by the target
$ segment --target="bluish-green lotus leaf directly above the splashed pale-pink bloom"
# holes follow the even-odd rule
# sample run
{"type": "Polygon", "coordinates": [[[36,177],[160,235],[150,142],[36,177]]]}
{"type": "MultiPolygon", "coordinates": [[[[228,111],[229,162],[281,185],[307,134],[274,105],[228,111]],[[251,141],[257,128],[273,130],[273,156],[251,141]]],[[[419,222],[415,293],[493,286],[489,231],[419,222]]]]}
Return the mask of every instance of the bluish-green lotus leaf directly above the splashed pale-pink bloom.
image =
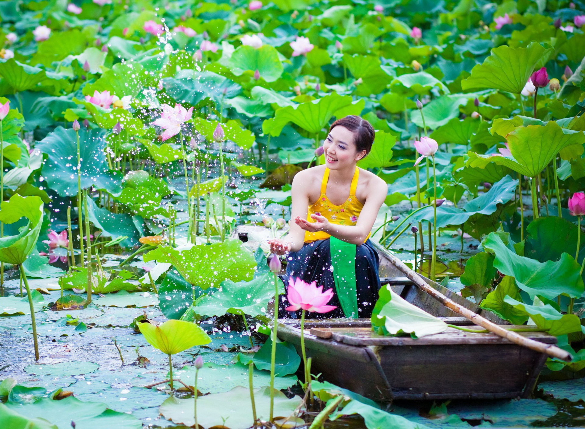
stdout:
{"type": "Polygon", "coordinates": [[[239,84],[212,71],[181,70],[174,78],[167,77],[162,81],[170,97],[192,106],[205,98],[211,98],[219,106],[223,98],[232,98],[242,92],[239,84]]]}

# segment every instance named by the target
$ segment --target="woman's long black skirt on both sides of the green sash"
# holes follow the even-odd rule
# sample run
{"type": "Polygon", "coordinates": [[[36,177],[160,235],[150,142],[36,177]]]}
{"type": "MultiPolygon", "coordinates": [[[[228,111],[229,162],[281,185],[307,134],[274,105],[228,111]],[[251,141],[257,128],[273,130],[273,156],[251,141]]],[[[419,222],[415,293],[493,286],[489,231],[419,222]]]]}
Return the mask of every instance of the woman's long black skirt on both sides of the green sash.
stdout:
{"type": "MultiPolygon", "coordinates": [[[[371,241],[356,246],[356,291],[357,314],[360,318],[371,317],[378,291],[380,290],[380,276],[378,276],[378,253],[371,241]]],[[[323,290],[332,289],[333,297],[329,305],[337,308],[329,313],[305,313],[305,318],[340,318],[345,317],[339,304],[339,298],[333,281],[333,266],[331,265],[331,249],[329,239],[305,243],[298,252],[288,253],[287,272],[283,276],[284,286],[288,289],[288,280],[299,277],[307,283],[316,282],[323,286],[323,290]]],[[[285,295],[280,296],[278,317],[301,318],[301,310],[286,311],[290,306],[285,295]]]]}

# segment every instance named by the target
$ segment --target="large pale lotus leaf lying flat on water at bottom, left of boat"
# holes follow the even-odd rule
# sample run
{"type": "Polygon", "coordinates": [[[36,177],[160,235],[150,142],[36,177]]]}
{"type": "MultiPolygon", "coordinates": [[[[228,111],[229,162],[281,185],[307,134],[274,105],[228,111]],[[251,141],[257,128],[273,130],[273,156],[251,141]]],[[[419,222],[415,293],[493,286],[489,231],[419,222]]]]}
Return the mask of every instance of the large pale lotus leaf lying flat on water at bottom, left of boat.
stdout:
{"type": "MultiPolygon", "coordinates": [[[[284,393],[274,392],[274,417],[288,417],[300,406],[301,398],[288,399],[284,393]]],[[[270,387],[254,389],[256,417],[268,420],[270,416],[270,387]]],[[[254,424],[250,390],[236,386],[226,393],[212,393],[197,399],[197,423],[201,427],[214,427],[225,424],[230,429],[247,429],[254,424]]],[[[192,426],[195,424],[192,399],[169,397],[159,407],[165,418],[174,423],[192,426]]]]}

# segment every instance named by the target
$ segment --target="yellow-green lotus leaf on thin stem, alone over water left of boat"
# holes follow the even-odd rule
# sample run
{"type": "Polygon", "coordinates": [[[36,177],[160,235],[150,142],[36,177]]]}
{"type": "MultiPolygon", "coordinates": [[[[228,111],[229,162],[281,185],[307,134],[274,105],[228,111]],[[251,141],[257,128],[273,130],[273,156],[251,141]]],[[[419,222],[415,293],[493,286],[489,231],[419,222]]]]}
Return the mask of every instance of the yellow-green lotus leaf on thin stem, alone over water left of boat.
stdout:
{"type": "Polygon", "coordinates": [[[146,341],[166,355],[174,355],[192,346],[209,344],[211,338],[198,324],[184,320],[167,320],[161,325],[139,323],[146,341]]]}

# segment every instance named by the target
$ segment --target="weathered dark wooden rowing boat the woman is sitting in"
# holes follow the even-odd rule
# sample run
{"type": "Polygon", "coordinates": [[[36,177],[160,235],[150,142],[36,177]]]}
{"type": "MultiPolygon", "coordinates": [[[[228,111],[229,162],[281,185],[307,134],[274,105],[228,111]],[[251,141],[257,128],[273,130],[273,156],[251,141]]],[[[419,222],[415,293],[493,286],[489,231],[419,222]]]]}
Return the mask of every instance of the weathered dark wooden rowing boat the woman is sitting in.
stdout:
{"type": "MultiPolygon", "coordinates": [[[[254,227],[239,229],[243,241],[247,241],[248,233],[252,232],[249,228],[254,227]]],[[[481,329],[415,286],[405,272],[392,263],[388,250],[381,246],[376,248],[382,284],[389,284],[409,303],[448,324],[481,329]]],[[[422,278],[457,304],[496,324],[508,325],[497,315],[441,284],[422,278]]],[[[278,337],[294,344],[301,354],[300,320],[279,322],[278,337]]],[[[556,344],[556,337],[545,332],[519,334],[545,344],[556,344]]],[[[381,402],[528,397],[547,358],[546,354],[495,334],[464,332],[456,328],[419,339],[386,337],[371,330],[369,319],[307,320],[304,336],[307,357],[312,358],[311,373],[321,374],[328,382],[381,402]]]]}

